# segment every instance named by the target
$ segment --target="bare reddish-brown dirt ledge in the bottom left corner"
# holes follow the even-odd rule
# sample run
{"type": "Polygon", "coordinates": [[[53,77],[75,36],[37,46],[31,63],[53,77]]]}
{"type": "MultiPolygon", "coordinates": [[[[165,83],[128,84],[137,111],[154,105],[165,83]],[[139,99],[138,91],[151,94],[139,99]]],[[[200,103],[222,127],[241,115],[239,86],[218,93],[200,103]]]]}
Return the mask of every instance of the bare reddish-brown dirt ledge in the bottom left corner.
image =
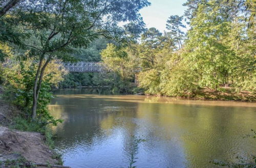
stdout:
{"type": "Polygon", "coordinates": [[[10,130],[0,126],[0,154],[4,156],[14,153],[33,163],[58,163],[53,158],[55,153],[45,145],[44,136],[40,133],[10,130]]]}

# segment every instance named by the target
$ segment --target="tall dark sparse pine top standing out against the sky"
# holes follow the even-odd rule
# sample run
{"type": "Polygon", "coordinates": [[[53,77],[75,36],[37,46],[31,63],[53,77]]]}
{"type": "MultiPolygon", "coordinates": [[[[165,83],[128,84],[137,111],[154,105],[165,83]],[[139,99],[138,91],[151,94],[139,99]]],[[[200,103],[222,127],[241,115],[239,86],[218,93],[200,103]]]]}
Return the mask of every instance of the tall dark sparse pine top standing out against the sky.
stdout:
{"type": "Polygon", "coordinates": [[[168,18],[166,29],[170,31],[175,39],[176,44],[178,44],[179,49],[182,48],[182,41],[184,39],[185,33],[182,32],[181,28],[186,26],[182,24],[183,16],[172,15],[168,18]]]}

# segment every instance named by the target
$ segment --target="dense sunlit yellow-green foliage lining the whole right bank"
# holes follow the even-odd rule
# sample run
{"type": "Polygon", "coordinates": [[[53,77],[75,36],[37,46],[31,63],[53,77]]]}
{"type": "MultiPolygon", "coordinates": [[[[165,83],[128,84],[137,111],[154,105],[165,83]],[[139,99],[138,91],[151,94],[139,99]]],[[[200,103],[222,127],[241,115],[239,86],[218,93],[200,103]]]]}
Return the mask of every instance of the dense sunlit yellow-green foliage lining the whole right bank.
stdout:
{"type": "Polygon", "coordinates": [[[119,74],[125,72],[122,67],[140,67],[139,87],[146,94],[210,98],[206,94],[228,93],[231,96],[211,98],[255,100],[255,25],[250,1],[190,0],[184,5],[188,7],[186,36],[182,17],[170,16],[169,32],[162,34],[152,27],[140,42],[125,49],[116,46],[117,51],[109,45],[102,52],[103,58],[108,57],[104,63],[119,74]],[[127,62],[133,58],[137,60],[127,62]],[[241,91],[249,91],[252,97],[238,94],[241,91]]]}

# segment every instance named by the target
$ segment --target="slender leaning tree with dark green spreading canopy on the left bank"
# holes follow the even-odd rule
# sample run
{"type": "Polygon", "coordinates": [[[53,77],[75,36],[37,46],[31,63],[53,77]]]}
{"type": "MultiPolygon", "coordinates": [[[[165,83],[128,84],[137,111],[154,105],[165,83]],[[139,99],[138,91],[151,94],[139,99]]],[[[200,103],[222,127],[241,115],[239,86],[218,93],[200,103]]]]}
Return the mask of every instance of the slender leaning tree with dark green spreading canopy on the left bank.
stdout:
{"type": "Polygon", "coordinates": [[[24,55],[38,60],[32,118],[36,118],[41,82],[50,61],[72,61],[69,53],[73,48],[87,47],[99,36],[124,38],[125,29],[118,26],[121,21],[142,30],[144,23],[138,12],[148,5],[146,0],[46,0],[38,4],[26,1],[15,8],[8,21],[29,33],[23,44],[28,50],[24,55]]]}

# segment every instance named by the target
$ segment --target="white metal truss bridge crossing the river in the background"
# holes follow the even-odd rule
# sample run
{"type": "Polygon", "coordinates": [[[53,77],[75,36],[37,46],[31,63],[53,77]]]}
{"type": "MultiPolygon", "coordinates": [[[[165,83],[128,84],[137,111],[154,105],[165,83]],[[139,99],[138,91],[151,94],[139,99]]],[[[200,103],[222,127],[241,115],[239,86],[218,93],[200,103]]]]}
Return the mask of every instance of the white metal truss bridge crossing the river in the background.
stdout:
{"type": "Polygon", "coordinates": [[[100,62],[62,63],[69,72],[108,72],[109,70],[100,62]]]}

